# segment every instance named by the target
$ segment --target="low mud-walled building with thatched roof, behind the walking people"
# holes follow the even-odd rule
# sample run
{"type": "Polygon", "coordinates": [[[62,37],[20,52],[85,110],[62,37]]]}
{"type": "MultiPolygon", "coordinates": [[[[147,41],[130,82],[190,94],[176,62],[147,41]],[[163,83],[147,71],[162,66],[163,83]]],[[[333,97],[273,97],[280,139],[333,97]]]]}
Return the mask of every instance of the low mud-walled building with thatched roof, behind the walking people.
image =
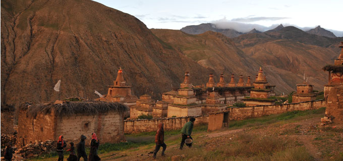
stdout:
{"type": "Polygon", "coordinates": [[[18,109],[17,145],[35,140],[79,140],[95,132],[102,143],[125,141],[124,112],[120,103],[102,101],[56,101],[39,105],[23,104],[18,109]]]}

